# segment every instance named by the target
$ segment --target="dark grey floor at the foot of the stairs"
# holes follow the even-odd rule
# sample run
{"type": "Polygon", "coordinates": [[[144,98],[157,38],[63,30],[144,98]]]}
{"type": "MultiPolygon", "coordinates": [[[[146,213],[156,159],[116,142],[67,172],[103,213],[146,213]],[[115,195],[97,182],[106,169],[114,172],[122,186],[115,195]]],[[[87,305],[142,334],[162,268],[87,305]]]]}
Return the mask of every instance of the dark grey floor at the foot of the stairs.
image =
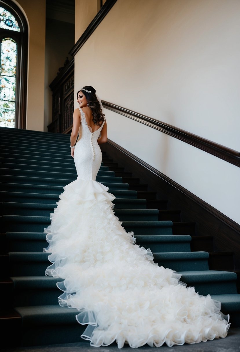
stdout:
{"type": "MultiPolygon", "coordinates": [[[[161,352],[240,352],[240,328],[230,328],[225,339],[200,342],[199,344],[168,347],[159,347],[161,352]]],[[[88,341],[76,342],[71,344],[31,346],[31,347],[12,347],[1,349],[2,352],[117,352],[116,344],[107,347],[91,347],[88,341]]],[[[124,352],[132,352],[133,348],[124,346],[124,352]]],[[[139,347],[142,352],[152,352],[152,347],[145,345],[139,347]]]]}

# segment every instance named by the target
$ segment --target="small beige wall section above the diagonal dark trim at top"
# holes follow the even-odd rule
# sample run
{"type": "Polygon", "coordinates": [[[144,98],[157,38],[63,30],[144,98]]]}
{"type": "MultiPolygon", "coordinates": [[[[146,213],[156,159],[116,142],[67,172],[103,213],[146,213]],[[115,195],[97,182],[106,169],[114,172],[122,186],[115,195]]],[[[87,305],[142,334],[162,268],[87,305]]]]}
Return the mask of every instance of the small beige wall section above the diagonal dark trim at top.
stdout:
{"type": "Polygon", "coordinates": [[[75,43],[94,19],[99,10],[99,0],[75,0],[75,43]]]}

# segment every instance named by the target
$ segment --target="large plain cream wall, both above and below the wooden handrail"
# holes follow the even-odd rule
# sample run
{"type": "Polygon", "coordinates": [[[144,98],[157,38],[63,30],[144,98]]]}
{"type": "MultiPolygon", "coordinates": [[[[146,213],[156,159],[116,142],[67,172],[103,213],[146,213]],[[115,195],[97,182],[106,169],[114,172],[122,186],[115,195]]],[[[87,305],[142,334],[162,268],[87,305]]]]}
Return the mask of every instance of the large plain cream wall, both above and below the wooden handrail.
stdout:
{"type": "MultiPolygon", "coordinates": [[[[117,1],[75,56],[75,90],[94,86],[103,100],[240,150],[239,12],[238,0],[117,1]]],[[[239,168],[106,118],[110,139],[240,223],[239,168]]]]}

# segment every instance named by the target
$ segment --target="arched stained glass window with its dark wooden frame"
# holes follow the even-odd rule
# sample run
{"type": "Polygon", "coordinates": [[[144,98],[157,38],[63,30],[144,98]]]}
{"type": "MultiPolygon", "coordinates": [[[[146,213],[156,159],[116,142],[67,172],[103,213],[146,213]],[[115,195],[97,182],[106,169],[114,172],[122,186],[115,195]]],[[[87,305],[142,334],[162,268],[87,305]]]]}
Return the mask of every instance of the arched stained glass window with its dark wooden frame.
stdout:
{"type": "Polygon", "coordinates": [[[0,1],[0,127],[26,128],[28,33],[12,1],[0,1]]]}

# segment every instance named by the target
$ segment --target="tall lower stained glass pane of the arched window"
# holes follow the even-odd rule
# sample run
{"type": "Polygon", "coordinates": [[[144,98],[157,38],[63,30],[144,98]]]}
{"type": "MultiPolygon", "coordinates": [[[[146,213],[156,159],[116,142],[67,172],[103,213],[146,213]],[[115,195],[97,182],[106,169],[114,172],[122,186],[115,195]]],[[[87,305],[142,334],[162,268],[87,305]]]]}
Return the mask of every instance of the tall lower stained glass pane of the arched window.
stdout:
{"type": "Polygon", "coordinates": [[[11,38],[1,42],[0,126],[15,127],[17,44],[11,38]]]}

